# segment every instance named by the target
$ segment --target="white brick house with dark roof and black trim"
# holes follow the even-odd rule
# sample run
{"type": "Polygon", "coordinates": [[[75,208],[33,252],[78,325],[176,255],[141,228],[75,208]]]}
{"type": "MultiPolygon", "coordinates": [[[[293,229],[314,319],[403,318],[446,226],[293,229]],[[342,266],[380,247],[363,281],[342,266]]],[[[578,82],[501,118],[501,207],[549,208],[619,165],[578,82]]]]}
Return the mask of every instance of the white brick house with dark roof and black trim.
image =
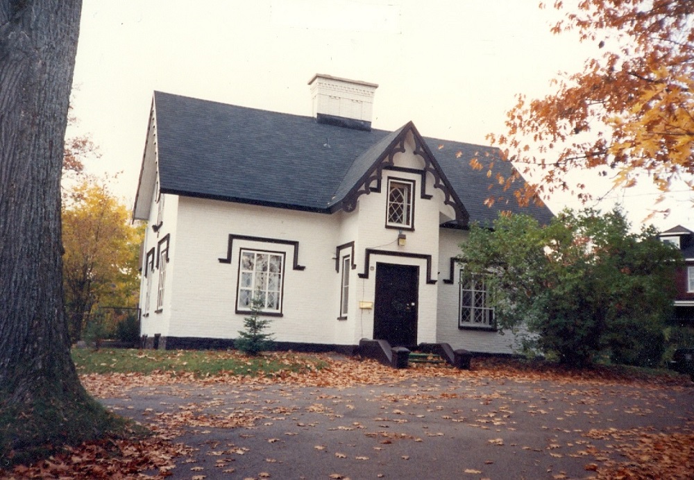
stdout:
{"type": "MultiPolygon", "coordinates": [[[[372,129],[378,85],[309,85],[312,117],[155,92],[133,212],[149,225],[146,344],[231,347],[260,295],[279,348],[353,352],[376,338],[511,352],[484,285],[460,282],[454,261],[471,222],[521,211],[484,205],[503,194],[487,173],[498,151],[422,137],[411,121],[372,129]]],[[[496,161],[494,175],[511,168],[496,161]]]]}

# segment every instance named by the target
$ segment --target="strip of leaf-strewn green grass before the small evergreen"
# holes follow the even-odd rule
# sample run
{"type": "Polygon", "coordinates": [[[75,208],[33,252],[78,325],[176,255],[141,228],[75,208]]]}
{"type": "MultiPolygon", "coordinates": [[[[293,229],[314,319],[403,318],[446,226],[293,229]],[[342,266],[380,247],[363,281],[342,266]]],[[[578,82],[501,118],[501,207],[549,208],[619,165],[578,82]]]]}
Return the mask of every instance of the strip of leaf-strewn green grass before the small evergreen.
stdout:
{"type": "Polygon", "coordinates": [[[320,370],[328,365],[306,354],[266,353],[248,357],[219,350],[73,349],[72,359],[80,374],[190,372],[196,377],[224,374],[257,377],[280,370],[320,370]]]}

